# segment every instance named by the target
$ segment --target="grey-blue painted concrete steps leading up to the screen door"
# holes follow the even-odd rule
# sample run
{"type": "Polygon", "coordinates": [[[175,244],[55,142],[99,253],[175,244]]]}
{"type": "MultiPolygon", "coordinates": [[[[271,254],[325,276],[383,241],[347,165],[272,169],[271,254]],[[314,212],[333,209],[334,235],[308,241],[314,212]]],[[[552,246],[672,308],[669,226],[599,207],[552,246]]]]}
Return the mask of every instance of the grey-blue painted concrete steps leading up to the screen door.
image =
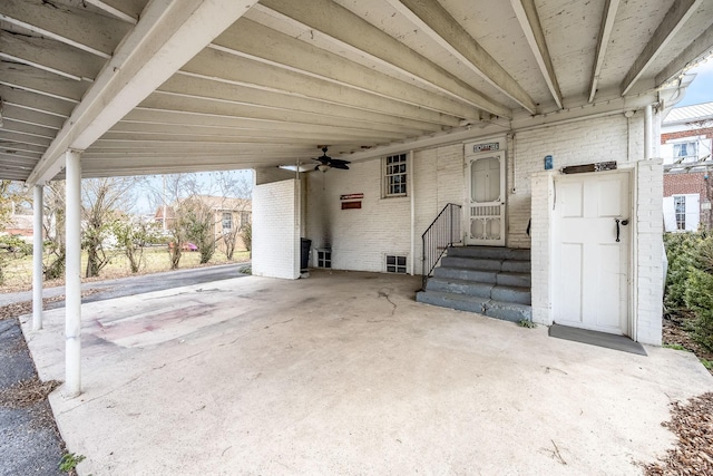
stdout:
{"type": "Polygon", "coordinates": [[[518,322],[531,320],[530,251],[449,247],[418,302],[518,322]]]}

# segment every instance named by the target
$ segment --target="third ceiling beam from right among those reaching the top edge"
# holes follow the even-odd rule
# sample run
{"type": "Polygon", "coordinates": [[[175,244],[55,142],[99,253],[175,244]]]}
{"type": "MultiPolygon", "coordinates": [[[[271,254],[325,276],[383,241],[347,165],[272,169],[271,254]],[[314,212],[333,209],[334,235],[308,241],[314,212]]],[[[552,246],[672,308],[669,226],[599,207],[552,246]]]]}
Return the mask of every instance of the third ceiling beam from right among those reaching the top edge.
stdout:
{"type": "Polygon", "coordinates": [[[547,82],[547,88],[555,99],[557,107],[561,109],[561,91],[559,90],[555,67],[553,66],[553,60],[547,48],[545,31],[543,31],[543,26],[539,22],[535,0],[510,0],[510,3],[515,10],[515,16],[520,22],[525,38],[527,38],[527,42],[533,50],[533,55],[535,55],[545,82],[547,82]]]}

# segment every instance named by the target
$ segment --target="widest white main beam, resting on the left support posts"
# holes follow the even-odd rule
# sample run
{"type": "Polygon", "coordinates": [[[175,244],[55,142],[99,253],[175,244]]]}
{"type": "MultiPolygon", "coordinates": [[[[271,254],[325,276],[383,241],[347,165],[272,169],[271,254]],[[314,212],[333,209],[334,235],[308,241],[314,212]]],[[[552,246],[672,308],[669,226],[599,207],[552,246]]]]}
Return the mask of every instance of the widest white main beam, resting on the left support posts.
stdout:
{"type": "Polygon", "coordinates": [[[65,150],[84,150],[257,0],[153,0],[75,108],[29,179],[61,168],[65,150]]]}

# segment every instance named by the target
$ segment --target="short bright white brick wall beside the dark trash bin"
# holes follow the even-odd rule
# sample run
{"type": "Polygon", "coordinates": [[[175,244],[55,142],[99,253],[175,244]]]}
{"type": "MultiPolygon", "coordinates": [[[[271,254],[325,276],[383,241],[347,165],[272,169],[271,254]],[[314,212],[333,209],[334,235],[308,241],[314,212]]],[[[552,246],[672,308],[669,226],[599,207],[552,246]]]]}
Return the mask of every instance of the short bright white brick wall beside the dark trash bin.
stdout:
{"type": "Polygon", "coordinates": [[[252,269],[258,276],[300,278],[300,181],[253,188],[252,269]]]}

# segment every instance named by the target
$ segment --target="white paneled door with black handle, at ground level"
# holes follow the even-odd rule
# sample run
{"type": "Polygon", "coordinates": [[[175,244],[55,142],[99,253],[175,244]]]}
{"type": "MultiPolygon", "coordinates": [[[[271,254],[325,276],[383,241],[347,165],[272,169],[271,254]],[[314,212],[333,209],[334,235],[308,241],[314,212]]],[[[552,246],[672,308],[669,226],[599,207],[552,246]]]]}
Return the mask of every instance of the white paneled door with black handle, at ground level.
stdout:
{"type": "Polygon", "coordinates": [[[554,320],[628,334],[629,175],[555,179],[554,320]]]}

